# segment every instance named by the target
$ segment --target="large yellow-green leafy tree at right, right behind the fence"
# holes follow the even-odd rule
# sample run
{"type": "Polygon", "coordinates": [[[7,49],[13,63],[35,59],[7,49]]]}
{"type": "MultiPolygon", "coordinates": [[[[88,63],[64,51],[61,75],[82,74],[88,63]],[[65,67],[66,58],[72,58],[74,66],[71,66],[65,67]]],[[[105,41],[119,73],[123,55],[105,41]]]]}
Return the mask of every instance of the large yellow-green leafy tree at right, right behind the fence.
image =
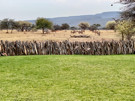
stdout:
{"type": "Polygon", "coordinates": [[[120,21],[116,30],[122,35],[122,40],[126,37],[127,40],[131,40],[132,36],[135,35],[135,24],[132,21],[120,21]]]}

